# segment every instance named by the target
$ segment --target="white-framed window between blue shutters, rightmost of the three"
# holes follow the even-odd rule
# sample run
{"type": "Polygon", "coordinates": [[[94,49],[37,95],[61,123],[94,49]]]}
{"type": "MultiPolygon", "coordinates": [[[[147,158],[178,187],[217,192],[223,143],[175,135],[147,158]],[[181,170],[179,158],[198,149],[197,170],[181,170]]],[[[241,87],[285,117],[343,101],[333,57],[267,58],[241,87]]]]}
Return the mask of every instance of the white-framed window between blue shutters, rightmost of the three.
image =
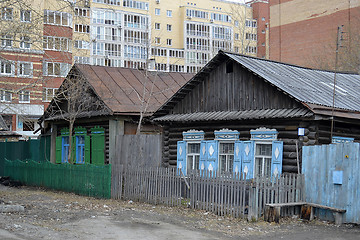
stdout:
{"type": "Polygon", "coordinates": [[[271,176],[271,144],[255,144],[255,176],[271,176]]]}

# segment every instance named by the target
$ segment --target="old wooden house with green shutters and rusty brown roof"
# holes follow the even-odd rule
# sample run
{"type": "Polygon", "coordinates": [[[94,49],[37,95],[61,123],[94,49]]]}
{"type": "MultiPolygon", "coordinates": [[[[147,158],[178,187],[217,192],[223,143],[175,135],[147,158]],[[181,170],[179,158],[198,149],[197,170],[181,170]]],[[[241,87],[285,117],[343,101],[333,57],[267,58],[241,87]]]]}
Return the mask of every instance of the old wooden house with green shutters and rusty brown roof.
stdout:
{"type": "Polygon", "coordinates": [[[76,64],[57,91],[40,122],[51,135],[51,161],[107,164],[115,158],[117,135],[162,129],[146,121],[193,74],[76,64]],[[73,144],[69,149],[69,127],[73,144]]]}

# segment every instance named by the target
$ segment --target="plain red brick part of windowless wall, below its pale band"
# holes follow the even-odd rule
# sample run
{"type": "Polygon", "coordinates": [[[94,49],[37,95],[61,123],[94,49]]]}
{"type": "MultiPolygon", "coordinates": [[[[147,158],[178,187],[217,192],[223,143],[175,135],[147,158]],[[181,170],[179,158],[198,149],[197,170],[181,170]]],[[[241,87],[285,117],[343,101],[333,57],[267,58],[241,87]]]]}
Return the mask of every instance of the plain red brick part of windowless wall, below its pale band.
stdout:
{"type": "MultiPolygon", "coordinates": [[[[276,2],[279,1],[270,1],[271,5],[276,2]]],[[[334,66],[337,27],[345,25],[348,32],[349,23],[360,22],[359,13],[357,7],[276,27],[271,26],[270,20],[270,59],[305,67],[334,66]]]]}

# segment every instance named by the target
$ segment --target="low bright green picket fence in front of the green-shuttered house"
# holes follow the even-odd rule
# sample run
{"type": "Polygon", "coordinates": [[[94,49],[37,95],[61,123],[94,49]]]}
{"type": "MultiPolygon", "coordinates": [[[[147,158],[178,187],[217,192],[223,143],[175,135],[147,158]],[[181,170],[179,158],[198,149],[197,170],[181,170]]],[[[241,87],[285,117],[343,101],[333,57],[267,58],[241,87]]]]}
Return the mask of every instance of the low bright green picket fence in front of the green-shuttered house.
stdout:
{"type": "Polygon", "coordinates": [[[5,160],[5,175],[24,185],[99,198],[111,197],[111,165],[5,160]]]}

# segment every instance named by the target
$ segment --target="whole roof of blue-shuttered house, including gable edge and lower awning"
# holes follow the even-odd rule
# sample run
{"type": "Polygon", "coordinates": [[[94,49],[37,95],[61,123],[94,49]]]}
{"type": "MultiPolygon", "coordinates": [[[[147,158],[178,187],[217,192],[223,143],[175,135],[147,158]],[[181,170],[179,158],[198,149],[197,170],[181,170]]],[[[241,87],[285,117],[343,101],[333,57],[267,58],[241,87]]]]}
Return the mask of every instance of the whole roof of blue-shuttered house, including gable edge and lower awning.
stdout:
{"type": "MultiPolygon", "coordinates": [[[[203,67],[193,79],[185,84],[154,114],[156,121],[201,121],[203,114],[171,114],[172,109],[188,95],[192,89],[206,79],[219,64],[233,61],[248,72],[258,76],[269,86],[299,102],[305,108],[278,111],[270,118],[309,117],[314,114],[331,115],[334,92],[334,72],[299,67],[295,65],[259,59],[224,51],[219,53],[203,67]],[[301,109],[303,109],[301,111],[301,109]],[[305,109],[305,111],[304,111],[305,109]],[[306,111],[307,110],[307,111],[306,111]],[[192,115],[190,115],[192,114],[192,115]]],[[[237,78],[242,81],[241,78],[237,78]]],[[[334,101],[334,115],[345,118],[360,119],[360,75],[354,73],[337,73],[334,101]]],[[[260,109],[267,110],[267,109],[260,109]]],[[[213,120],[256,119],[259,109],[214,112],[213,120]],[[254,112],[255,111],[255,112],[254,112]],[[216,115],[219,113],[219,115],[216,115]],[[221,113],[221,114],[220,114],[221,113]],[[218,116],[218,117],[215,117],[218,116]],[[245,118],[244,118],[245,117],[245,118]]]]}

